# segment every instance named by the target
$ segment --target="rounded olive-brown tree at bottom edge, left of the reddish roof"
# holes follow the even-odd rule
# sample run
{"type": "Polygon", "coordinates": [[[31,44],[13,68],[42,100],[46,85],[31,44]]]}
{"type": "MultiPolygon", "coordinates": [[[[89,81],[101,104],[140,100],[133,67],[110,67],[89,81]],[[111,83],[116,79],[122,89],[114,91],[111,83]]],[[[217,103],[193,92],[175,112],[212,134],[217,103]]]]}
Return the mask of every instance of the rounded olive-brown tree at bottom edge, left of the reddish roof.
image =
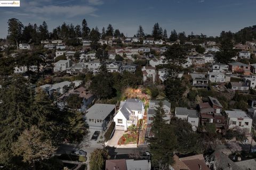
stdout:
{"type": "Polygon", "coordinates": [[[105,149],[96,149],[90,155],[90,169],[101,170],[105,167],[106,160],[109,159],[105,149]]]}

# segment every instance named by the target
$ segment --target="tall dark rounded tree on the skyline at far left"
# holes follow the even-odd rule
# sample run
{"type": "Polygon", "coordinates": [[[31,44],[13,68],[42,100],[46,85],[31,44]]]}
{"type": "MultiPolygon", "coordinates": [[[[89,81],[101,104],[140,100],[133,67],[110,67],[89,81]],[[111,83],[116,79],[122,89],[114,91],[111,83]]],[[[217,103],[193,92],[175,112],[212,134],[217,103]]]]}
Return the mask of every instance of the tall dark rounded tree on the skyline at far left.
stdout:
{"type": "Polygon", "coordinates": [[[19,43],[22,37],[23,24],[15,18],[8,20],[8,39],[17,45],[19,49],[19,43]]]}

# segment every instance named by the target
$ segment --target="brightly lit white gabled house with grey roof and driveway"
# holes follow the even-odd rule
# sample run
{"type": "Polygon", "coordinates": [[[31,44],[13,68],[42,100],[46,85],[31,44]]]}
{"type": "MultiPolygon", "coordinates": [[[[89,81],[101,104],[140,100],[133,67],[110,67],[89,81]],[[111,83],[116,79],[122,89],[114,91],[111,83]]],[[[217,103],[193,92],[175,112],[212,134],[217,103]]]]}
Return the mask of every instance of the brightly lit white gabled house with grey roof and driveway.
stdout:
{"type": "Polygon", "coordinates": [[[116,130],[127,130],[132,124],[137,125],[137,122],[143,118],[145,113],[145,105],[139,99],[127,99],[121,101],[119,110],[114,117],[116,130]]]}

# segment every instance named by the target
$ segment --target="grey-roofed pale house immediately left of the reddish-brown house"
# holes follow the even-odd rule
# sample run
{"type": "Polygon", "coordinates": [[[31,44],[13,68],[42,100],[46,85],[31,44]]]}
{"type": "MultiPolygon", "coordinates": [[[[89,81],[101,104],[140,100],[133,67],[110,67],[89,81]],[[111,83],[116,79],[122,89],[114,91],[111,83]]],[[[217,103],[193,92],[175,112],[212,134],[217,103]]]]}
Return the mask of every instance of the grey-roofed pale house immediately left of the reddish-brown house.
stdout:
{"type": "Polygon", "coordinates": [[[196,110],[187,109],[186,107],[176,107],[174,116],[188,121],[192,125],[193,131],[196,131],[199,125],[199,116],[196,110]]]}

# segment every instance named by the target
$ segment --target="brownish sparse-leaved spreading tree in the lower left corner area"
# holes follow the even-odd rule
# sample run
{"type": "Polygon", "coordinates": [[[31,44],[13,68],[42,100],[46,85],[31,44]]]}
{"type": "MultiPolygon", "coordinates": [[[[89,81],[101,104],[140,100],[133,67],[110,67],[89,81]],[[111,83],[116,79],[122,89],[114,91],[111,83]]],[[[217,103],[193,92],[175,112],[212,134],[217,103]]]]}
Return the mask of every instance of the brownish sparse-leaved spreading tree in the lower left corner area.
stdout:
{"type": "Polygon", "coordinates": [[[28,163],[49,158],[55,150],[51,140],[45,139],[44,133],[36,126],[31,126],[29,130],[23,131],[12,146],[13,154],[21,156],[23,162],[28,163]]]}

